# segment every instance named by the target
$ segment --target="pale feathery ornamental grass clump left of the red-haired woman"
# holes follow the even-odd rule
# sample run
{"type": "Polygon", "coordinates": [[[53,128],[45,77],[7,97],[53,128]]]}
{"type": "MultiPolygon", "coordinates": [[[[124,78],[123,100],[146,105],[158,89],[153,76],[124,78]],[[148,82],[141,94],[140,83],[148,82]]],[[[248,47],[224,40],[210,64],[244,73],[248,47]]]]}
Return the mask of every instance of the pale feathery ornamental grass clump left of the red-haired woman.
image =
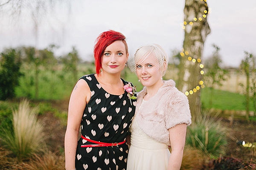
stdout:
{"type": "Polygon", "coordinates": [[[30,108],[29,102],[20,102],[18,110],[13,113],[13,133],[3,129],[3,144],[17,156],[18,160],[28,158],[33,153],[44,151],[45,136],[43,125],[37,120],[38,108],[30,108]]]}

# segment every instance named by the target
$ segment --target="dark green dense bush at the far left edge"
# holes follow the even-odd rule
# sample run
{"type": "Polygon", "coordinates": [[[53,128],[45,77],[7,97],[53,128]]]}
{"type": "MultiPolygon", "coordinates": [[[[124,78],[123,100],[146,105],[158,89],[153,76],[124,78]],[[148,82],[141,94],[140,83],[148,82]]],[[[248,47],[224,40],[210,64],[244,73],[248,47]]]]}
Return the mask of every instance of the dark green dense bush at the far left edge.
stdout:
{"type": "Polygon", "coordinates": [[[0,100],[13,98],[15,87],[19,85],[20,59],[15,49],[8,49],[1,54],[0,63],[0,100]]]}

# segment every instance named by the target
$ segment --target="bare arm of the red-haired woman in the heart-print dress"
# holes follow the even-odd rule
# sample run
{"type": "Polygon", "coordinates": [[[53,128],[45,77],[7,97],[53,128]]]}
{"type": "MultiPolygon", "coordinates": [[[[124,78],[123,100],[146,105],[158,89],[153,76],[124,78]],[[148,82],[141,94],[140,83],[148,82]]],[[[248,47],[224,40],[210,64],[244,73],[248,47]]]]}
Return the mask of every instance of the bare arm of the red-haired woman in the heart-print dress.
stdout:
{"type": "Polygon", "coordinates": [[[87,82],[80,79],[70,96],[65,134],[65,167],[66,170],[75,170],[76,147],[81,119],[84,108],[90,100],[90,88],[87,82]]]}

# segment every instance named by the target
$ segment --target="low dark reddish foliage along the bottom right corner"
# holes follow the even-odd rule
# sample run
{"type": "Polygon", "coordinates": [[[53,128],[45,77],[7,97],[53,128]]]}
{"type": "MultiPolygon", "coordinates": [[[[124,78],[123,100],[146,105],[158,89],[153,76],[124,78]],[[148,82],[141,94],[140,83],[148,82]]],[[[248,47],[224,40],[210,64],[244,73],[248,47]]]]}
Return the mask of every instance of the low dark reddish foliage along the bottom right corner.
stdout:
{"type": "Polygon", "coordinates": [[[219,159],[210,160],[203,170],[255,170],[256,164],[252,162],[242,161],[241,159],[221,157],[219,159]]]}

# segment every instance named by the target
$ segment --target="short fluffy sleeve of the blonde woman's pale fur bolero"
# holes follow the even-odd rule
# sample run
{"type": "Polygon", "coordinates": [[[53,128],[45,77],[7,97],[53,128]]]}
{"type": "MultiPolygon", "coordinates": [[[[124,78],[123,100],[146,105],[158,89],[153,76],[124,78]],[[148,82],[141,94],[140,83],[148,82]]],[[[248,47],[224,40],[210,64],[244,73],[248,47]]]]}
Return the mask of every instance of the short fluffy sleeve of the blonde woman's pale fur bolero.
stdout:
{"type": "Polygon", "coordinates": [[[189,101],[185,94],[176,89],[164,109],[166,129],[178,124],[191,124],[189,101]]]}

